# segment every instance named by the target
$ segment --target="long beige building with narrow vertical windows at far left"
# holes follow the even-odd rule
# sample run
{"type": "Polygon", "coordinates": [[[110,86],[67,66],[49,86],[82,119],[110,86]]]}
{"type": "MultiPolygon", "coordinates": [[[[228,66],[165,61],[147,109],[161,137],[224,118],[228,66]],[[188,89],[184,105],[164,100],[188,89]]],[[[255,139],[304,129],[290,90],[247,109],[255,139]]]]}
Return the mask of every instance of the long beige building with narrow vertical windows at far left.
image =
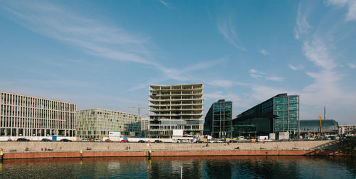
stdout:
{"type": "Polygon", "coordinates": [[[76,104],[0,93],[0,136],[75,136],[76,104]]]}

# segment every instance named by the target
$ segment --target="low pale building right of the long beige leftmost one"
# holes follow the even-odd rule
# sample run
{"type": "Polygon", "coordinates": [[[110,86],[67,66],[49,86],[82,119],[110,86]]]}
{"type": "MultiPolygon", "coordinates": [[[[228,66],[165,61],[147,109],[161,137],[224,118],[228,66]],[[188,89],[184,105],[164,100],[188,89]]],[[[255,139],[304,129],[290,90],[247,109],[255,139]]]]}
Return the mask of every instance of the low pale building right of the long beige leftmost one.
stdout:
{"type": "Polygon", "coordinates": [[[122,136],[139,136],[141,116],[108,109],[83,109],[76,113],[77,136],[98,139],[109,136],[109,131],[120,131],[122,136]]]}

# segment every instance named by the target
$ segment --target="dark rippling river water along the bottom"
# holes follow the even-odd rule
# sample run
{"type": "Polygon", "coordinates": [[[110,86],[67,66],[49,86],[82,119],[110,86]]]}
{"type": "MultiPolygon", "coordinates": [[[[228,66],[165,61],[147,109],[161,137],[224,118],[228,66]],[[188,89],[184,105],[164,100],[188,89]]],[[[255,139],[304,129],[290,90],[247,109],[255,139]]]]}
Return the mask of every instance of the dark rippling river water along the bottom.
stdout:
{"type": "Polygon", "coordinates": [[[356,178],[356,158],[219,156],[4,160],[0,178],[356,178]]]}

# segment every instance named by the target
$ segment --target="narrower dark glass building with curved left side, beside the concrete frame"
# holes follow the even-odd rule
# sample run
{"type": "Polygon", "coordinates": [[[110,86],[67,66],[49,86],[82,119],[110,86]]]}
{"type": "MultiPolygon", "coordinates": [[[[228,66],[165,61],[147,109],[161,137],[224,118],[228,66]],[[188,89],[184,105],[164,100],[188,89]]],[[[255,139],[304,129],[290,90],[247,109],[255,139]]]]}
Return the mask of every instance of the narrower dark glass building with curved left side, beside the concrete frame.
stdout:
{"type": "Polygon", "coordinates": [[[219,99],[211,104],[205,116],[204,131],[214,138],[229,138],[232,136],[232,102],[219,99]]]}

